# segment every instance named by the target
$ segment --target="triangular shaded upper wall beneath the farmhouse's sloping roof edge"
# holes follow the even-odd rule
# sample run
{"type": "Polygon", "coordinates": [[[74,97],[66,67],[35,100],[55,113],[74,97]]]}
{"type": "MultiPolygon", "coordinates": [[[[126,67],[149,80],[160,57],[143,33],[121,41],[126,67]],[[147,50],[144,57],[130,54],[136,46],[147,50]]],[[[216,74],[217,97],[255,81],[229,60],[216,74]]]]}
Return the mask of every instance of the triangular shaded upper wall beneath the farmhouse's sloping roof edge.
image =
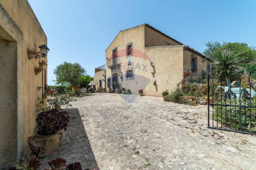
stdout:
{"type": "Polygon", "coordinates": [[[180,43],[173,41],[172,39],[158,33],[148,26],[145,26],[145,47],[166,46],[166,42],[170,43],[171,45],[181,45],[180,43]]]}

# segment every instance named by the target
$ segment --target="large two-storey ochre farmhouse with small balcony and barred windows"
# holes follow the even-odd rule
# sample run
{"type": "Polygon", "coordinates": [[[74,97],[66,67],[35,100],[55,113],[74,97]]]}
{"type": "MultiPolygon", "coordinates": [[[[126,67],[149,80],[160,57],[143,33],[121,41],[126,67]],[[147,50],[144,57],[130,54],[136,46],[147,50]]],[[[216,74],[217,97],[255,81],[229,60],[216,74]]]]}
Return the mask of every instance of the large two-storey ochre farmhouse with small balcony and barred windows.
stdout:
{"type": "Polygon", "coordinates": [[[119,82],[133,94],[161,96],[173,91],[183,77],[183,66],[190,77],[209,69],[210,60],[193,48],[165,35],[148,24],[120,31],[106,49],[106,79],[115,89],[119,82]]]}

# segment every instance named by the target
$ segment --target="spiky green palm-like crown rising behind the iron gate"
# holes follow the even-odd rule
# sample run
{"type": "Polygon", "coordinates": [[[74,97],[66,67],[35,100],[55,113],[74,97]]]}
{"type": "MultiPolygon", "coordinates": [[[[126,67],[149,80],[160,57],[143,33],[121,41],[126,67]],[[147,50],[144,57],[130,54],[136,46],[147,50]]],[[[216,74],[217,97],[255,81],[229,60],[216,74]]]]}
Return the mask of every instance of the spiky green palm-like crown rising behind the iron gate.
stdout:
{"type": "Polygon", "coordinates": [[[218,75],[220,78],[235,76],[243,71],[241,59],[228,50],[218,51],[212,62],[212,75],[218,75]]]}

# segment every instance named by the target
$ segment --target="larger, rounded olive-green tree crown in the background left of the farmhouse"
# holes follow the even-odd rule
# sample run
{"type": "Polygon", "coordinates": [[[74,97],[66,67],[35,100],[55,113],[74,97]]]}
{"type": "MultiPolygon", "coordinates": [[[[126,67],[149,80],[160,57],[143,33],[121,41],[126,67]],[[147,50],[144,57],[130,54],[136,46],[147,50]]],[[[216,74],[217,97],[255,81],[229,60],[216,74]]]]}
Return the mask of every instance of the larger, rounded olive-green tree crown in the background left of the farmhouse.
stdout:
{"type": "Polygon", "coordinates": [[[66,85],[70,83],[73,87],[77,87],[79,77],[86,74],[86,71],[79,63],[64,62],[58,65],[53,73],[56,76],[56,84],[66,85]]]}

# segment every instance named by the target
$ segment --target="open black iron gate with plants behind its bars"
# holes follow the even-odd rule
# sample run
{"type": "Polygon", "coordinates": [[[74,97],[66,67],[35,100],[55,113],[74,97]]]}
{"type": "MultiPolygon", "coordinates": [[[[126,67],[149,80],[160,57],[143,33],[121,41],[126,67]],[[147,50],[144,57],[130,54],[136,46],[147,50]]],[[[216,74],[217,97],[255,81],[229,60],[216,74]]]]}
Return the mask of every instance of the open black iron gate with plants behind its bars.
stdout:
{"type": "Polygon", "coordinates": [[[256,135],[256,69],[207,80],[208,128],[256,135]]]}

